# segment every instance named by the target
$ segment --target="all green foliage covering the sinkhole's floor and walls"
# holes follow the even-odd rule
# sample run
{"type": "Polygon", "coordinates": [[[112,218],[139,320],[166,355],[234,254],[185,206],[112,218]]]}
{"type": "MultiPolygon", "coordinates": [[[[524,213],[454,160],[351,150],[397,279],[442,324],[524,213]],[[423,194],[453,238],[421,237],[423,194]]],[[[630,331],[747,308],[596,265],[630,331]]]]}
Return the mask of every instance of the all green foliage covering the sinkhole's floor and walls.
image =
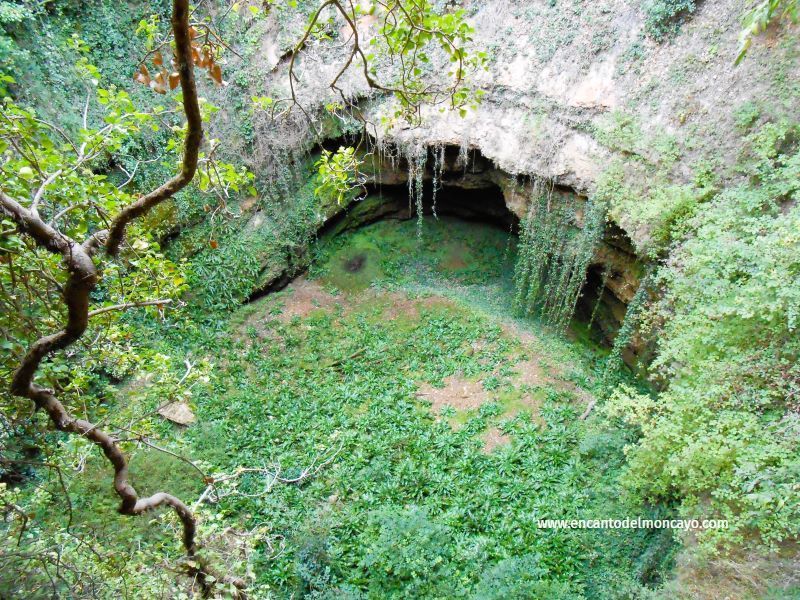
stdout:
{"type": "MultiPolygon", "coordinates": [[[[456,114],[480,99],[461,69],[484,66],[486,55],[449,47],[446,36],[467,44],[473,32],[464,12],[435,4],[427,21],[424,10],[415,17],[435,35],[408,22],[383,30],[388,50],[376,49],[372,64],[386,77],[372,87],[397,94],[391,86],[404,76],[430,76],[437,52],[459,65],[447,73],[455,87],[415,79],[390,119],[416,122],[423,104],[448,93],[456,114]],[[428,43],[430,54],[416,52],[428,43]],[[383,73],[409,51],[415,62],[399,77],[383,73]]],[[[647,34],[668,44],[696,4],[643,2],[647,34]]],[[[271,10],[302,32],[297,23],[318,6],[271,10]]],[[[242,156],[208,140],[195,184],[132,227],[119,257],[96,259],[103,280],[83,345],[38,372],[75,414],[115,432],[141,494],[167,489],[192,506],[204,564],[244,575],[254,598],[498,600],[672,597],[681,560],[701,573],[787,556],[791,565],[800,523],[800,125],[786,116],[800,88],[791,60],[765,71],[760,84],[777,90],[771,104],[731,110],[739,147],[727,164],[703,145],[702,125],[680,142],[620,107],[575,125],[612,157],[590,198],[554,193],[544,179],[512,183],[529,195],[516,238],[424,217],[426,168],[432,158],[435,193],[444,146],[387,145],[379,153],[396,153],[391,162],[407,169],[414,218],[349,231],[345,215],[318,239],[343,208],[363,216],[381,202],[366,196],[369,143],[347,145],[358,118],[331,104],[296,152],[276,151],[262,171],[242,167],[253,164],[259,115],[287,101],[276,90],[251,95],[263,8],[237,6],[221,25],[242,56],[231,59],[228,88],[205,89],[222,109],[202,101],[207,127],[242,156]],[[323,138],[345,145],[315,148],[323,138]],[[641,279],[610,349],[573,321],[608,221],[633,239],[641,279]],[[654,356],[638,378],[620,360],[634,338],[654,356]],[[163,418],[171,404],[196,422],[163,418]],[[689,535],[537,527],[540,518],[630,516],[730,526],[689,535]]],[[[164,30],[169,10],[0,2],[0,191],[33,205],[47,187],[41,213],[77,240],[180,160],[180,97],[131,84],[131,57],[164,30]]],[[[560,10],[533,11],[564,32],[537,48],[548,58],[576,35],[560,10]]],[[[796,19],[794,1],[757,3],[744,15],[739,60],[769,23],[796,19]]],[[[306,41],[340,35],[330,19],[306,41]]],[[[607,49],[595,37],[597,51],[607,49]]],[[[671,72],[672,83],[682,74],[671,72]]],[[[180,548],[175,515],[116,515],[101,453],[53,432],[7,391],[31,342],[63,322],[65,281],[61,257],[0,218],[0,596],[189,597],[197,589],[186,574],[198,563],[180,548]]],[[[778,573],[769,596],[773,581],[761,575],[734,593],[797,593],[778,573]]],[[[213,575],[210,584],[209,594],[236,594],[213,575]]]]}

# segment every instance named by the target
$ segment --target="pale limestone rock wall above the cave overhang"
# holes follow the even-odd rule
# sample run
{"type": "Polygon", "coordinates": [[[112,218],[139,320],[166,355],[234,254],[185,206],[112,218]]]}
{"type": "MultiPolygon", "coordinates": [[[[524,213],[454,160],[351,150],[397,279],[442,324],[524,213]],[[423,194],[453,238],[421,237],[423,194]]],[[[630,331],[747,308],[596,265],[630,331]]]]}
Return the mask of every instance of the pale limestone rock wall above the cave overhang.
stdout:
{"type": "MultiPolygon", "coordinates": [[[[740,0],[698,2],[677,37],[660,43],[645,33],[639,0],[459,4],[475,27],[475,48],[489,54],[488,70],[472,77],[486,92],[481,105],[463,118],[430,107],[420,127],[386,122],[382,117],[390,114],[391,100],[371,92],[360,69],[351,68],[339,87],[346,97],[363,99],[378,137],[398,144],[468,146],[507,173],[549,177],[588,195],[608,162],[630,152],[604,135],[618,115],[634,124],[643,142],[634,152],[645,158],[657,154],[666,139],[674,144],[680,160],[673,175],[680,181],[691,177],[691,164],[700,157],[735,160],[741,144],[737,107],[750,102],[775,116],[800,112],[800,30],[771,29],[734,67],[745,9],[740,0]]],[[[250,33],[257,41],[240,65],[248,74],[241,84],[247,94],[288,96],[287,53],[304,24],[299,17],[290,22],[276,17],[250,33]]],[[[333,39],[310,43],[297,61],[298,98],[316,122],[298,119],[301,131],[281,136],[287,146],[330,126],[315,111],[337,101],[328,84],[348,48],[336,37],[342,24],[330,27],[333,39]]],[[[375,27],[374,20],[363,20],[362,37],[369,39],[375,27]]],[[[434,64],[430,70],[442,68],[434,64]]],[[[264,115],[254,119],[256,136],[275,126],[264,115]]],[[[333,125],[340,119],[346,120],[334,116],[333,125]]],[[[267,159],[258,152],[248,157],[267,159]]]]}

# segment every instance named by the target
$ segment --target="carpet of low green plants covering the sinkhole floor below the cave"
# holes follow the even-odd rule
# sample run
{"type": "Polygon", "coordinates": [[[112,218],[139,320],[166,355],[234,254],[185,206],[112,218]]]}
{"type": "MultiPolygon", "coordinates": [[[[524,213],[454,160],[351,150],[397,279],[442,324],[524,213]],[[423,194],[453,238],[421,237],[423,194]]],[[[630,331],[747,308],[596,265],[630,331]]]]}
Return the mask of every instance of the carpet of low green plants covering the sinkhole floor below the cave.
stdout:
{"type": "MultiPolygon", "coordinates": [[[[121,392],[125,420],[218,479],[266,468],[206,507],[212,527],[220,520],[243,535],[252,530],[254,592],[505,598],[514,589],[519,597],[612,598],[658,581],[669,532],[536,526],[539,518],[625,518],[633,509],[618,482],[631,432],[577,418],[580,394],[601,391],[602,355],[514,319],[507,233],[431,219],[417,238],[416,227],[384,222],[321,242],[310,303],[294,297],[302,289],[281,292],[216,330],[138,321],[153,352],[185,356],[210,379],[193,387],[199,421],[185,432],[153,417],[162,388],[148,379],[121,392]],[[528,360],[550,375],[520,380],[517,365],[528,360]],[[445,386],[453,375],[478,382],[486,401],[445,407],[449,417],[434,419],[419,386],[445,386]],[[495,427],[508,443],[485,452],[481,436],[495,427]],[[292,478],[327,460],[301,484],[265,487],[277,469],[292,478]]],[[[147,465],[137,478],[143,489],[166,480],[200,495],[197,472],[135,448],[134,466],[147,465]]],[[[90,459],[68,485],[85,498],[73,506],[73,535],[97,528],[110,540],[100,565],[111,588],[115,551],[131,536],[143,557],[174,551],[174,542],[157,527],[120,531],[93,512],[97,502],[113,506],[101,467],[90,459]]],[[[56,486],[45,486],[36,510],[57,514],[56,486]]],[[[27,544],[53,535],[39,527],[27,544]]],[[[217,551],[231,559],[230,548],[217,551]]],[[[128,585],[170,585],[151,569],[123,573],[128,585]]]]}

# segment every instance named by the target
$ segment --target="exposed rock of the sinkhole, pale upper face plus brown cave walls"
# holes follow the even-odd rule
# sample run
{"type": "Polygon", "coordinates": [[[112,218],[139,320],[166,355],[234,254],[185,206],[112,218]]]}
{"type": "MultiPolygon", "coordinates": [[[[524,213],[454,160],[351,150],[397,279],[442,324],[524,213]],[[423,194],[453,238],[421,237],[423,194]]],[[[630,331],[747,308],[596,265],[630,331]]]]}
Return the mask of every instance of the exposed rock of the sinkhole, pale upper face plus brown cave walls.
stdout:
{"type": "MultiPolygon", "coordinates": [[[[646,35],[640,2],[463,0],[459,4],[475,27],[475,47],[490,56],[489,69],[473,76],[485,90],[477,109],[461,117],[430,107],[421,126],[409,127],[382,119],[392,113],[392,99],[371,91],[360,69],[347,71],[338,87],[360,102],[379,144],[452,149],[441,185],[463,191],[460,206],[451,206],[462,216],[522,218],[530,202],[525,182],[531,178],[545,178],[563,193],[590,197],[610,164],[630,158],[625,140],[614,138],[620,115],[634,138],[634,152],[644,163],[658,162],[659,144],[669,142],[669,152],[676,158],[665,167],[668,177],[685,183],[692,180],[692,165],[699,159],[711,157],[723,166],[735,161],[741,145],[737,107],[746,102],[769,106],[773,118],[800,112],[800,94],[792,87],[800,79],[796,44],[800,29],[783,27],[756,39],[748,59],[734,68],[743,11],[740,0],[699,2],[677,37],[663,43],[646,35]],[[769,74],[775,65],[780,66],[780,78],[769,74]],[[466,170],[456,165],[463,150],[470,158],[466,170]],[[468,193],[481,190],[499,193],[502,204],[483,206],[468,193]]],[[[293,20],[283,15],[259,21],[254,25],[258,30],[248,33],[252,58],[240,65],[249,76],[244,97],[289,95],[289,52],[306,21],[299,15],[288,18],[293,20]]],[[[375,33],[376,23],[370,21],[359,23],[364,41],[375,33]]],[[[349,52],[346,41],[337,38],[342,26],[332,22],[329,33],[334,39],[311,41],[296,61],[295,90],[304,114],[295,111],[293,118],[277,124],[266,114],[255,114],[255,141],[250,146],[241,141],[237,151],[238,140],[229,140],[231,151],[249,161],[254,172],[268,172],[276,156],[307,151],[321,137],[335,138],[346,129],[344,119],[323,110],[339,100],[329,83],[349,52]]],[[[436,56],[433,60],[431,76],[446,71],[436,56]]],[[[430,167],[431,161],[425,175],[428,182],[430,167]]],[[[626,167],[625,174],[639,187],[648,187],[646,169],[626,167]]],[[[404,165],[382,161],[375,168],[373,189],[402,190],[407,180],[404,165]]],[[[320,226],[328,223],[342,229],[387,215],[410,217],[407,196],[403,201],[392,194],[370,197],[347,210],[326,206],[320,226]]],[[[579,305],[579,310],[592,312],[591,290],[605,290],[596,322],[608,337],[638,287],[641,265],[636,248],[647,243],[646,229],[625,215],[616,218],[595,252],[588,293],[579,305]]]]}

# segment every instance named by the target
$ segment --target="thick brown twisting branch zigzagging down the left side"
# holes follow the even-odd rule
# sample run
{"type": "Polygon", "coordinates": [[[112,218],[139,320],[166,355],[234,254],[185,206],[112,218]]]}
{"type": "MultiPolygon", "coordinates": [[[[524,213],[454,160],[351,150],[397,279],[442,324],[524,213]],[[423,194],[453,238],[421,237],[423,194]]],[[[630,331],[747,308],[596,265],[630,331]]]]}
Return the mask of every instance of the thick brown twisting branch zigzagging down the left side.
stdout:
{"type": "MultiPolygon", "coordinates": [[[[69,277],[62,290],[67,308],[67,320],[64,328],[54,334],[44,336],[34,342],[22,359],[14,373],[11,392],[32,400],[39,410],[44,410],[56,429],[80,435],[97,445],[114,467],[114,490],[121,500],[119,512],[125,515],[140,515],[159,507],[171,508],[183,526],[183,546],[191,558],[196,558],[197,543],[196,520],[191,509],[179,498],[166,492],[158,492],[152,496],[139,497],[128,481],[128,462],[117,441],[108,433],[83,419],[73,417],[58,400],[53,390],[44,388],[35,382],[36,372],[42,361],[49,355],[64,350],[75,343],[85,333],[91,316],[108,310],[123,308],[115,306],[89,311],[90,294],[99,279],[97,267],[92,256],[100,249],[105,240],[106,251],[116,255],[125,235],[126,227],[136,218],[171,197],[182,189],[194,177],[197,169],[198,152],[203,131],[200,119],[200,106],[195,87],[192,47],[189,31],[189,1],[173,0],[172,31],[175,38],[175,62],[180,75],[183,92],[183,108],[186,113],[187,133],[184,143],[184,156],[181,170],[164,185],[139,198],[122,209],[112,220],[106,238],[104,232],[98,232],[79,244],[43,221],[35,203],[41,198],[47,180],[34,198],[34,204],[25,208],[20,202],[0,191],[0,212],[11,218],[20,232],[29,235],[35,243],[60,255],[69,277]]],[[[153,303],[164,304],[164,301],[153,303]]],[[[130,303],[130,305],[148,305],[151,303],[130,303]]],[[[197,561],[199,562],[199,561],[197,561]]],[[[202,564],[202,563],[200,563],[202,564]]],[[[205,591],[205,571],[201,567],[193,573],[205,591]]],[[[239,580],[228,578],[228,581],[243,587],[239,580]]]]}

